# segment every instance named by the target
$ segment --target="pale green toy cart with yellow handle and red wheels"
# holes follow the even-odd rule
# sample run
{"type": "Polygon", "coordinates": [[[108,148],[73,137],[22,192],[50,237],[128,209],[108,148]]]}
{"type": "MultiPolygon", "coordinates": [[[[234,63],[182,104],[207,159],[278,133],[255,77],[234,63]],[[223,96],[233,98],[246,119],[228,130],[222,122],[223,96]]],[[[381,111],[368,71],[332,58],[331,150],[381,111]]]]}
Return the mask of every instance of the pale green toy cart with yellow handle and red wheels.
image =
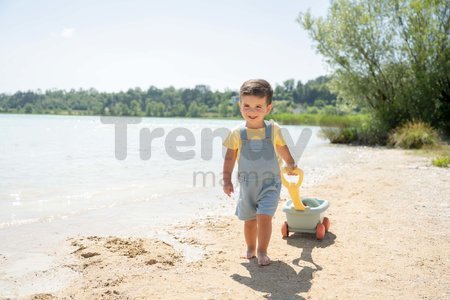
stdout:
{"type": "Polygon", "coordinates": [[[289,182],[285,178],[286,170],[281,174],[281,181],[288,189],[291,199],[286,201],[283,206],[283,212],[286,213],[286,222],[281,226],[281,234],[288,237],[289,232],[308,232],[315,233],[318,240],[325,237],[325,233],[330,228],[330,220],[323,216],[323,213],[329,207],[327,200],[316,198],[300,199],[300,185],[303,181],[303,171],[295,169],[294,173],[298,176],[298,181],[289,182]]]}

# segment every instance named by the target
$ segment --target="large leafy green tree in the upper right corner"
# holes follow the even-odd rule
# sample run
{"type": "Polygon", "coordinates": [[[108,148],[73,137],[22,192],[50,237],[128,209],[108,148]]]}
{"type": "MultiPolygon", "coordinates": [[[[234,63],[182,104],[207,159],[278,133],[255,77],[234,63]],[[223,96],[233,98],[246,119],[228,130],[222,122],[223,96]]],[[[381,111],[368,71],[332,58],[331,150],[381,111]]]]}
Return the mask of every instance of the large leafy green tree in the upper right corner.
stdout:
{"type": "Polygon", "coordinates": [[[332,91],[386,129],[422,120],[450,133],[450,2],[335,0],[298,21],[333,70],[332,91]]]}

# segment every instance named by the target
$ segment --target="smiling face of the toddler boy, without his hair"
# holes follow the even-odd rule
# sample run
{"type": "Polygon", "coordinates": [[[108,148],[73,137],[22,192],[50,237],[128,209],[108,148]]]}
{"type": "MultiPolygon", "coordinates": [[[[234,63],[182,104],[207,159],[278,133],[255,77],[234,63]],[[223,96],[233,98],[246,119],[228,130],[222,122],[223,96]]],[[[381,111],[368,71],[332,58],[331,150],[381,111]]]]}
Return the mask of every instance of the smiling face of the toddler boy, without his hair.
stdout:
{"type": "Polygon", "coordinates": [[[264,117],[272,109],[272,105],[266,104],[266,97],[245,95],[241,97],[241,114],[249,128],[261,128],[264,126],[264,117]]]}

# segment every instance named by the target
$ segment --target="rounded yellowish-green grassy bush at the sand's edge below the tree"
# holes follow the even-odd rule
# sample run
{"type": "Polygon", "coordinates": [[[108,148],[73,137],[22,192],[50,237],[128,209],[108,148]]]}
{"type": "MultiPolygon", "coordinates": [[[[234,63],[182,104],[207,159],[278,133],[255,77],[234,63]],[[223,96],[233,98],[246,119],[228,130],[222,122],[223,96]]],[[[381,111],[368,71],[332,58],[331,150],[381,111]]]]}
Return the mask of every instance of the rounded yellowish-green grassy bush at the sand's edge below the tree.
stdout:
{"type": "Polygon", "coordinates": [[[389,143],[396,148],[421,149],[424,146],[436,146],[439,136],[429,124],[410,121],[391,132],[389,143]]]}

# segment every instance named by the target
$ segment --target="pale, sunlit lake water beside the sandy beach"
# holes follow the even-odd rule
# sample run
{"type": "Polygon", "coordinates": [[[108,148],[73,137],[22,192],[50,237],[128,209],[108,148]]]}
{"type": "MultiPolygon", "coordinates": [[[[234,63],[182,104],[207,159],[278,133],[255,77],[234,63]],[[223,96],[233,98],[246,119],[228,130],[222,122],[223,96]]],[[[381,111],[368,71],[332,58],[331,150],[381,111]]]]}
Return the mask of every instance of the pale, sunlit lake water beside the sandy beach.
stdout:
{"type": "MultiPolygon", "coordinates": [[[[42,288],[26,279],[49,268],[50,253],[68,237],[161,238],[179,222],[232,215],[235,200],[221,186],[222,140],[207,133],[241,123],[142,118],[127,126],[120,160],[115,126],[100,117],[0,115],[0,296],[42,288]],[[143,151],[149,132],[161,137],[143,151]]],[[[317,137],[318,127],[285,128],[294,144],[312,133],[295,147],[304,148],[304,185],[348,159],[344,147],[317,137]]]]}

